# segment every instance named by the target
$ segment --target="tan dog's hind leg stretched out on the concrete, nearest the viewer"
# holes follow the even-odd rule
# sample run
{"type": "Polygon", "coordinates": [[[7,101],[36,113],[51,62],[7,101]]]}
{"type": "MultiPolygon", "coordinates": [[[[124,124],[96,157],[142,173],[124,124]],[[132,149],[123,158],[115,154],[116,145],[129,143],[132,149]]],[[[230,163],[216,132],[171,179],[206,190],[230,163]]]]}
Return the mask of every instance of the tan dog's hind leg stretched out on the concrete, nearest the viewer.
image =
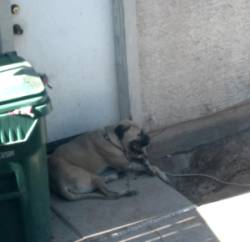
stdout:
{"type": "Polygon", "coordinates": [[[93,179],[93,183],[96,189],[98,189],[106,197],[106,199],[118,199],[121,197],[130,197],[138,194],[137,191],[133,190],[124,190],[120,192],[111,191],[108,189],[105,182],[97,176],[93,179]]]}

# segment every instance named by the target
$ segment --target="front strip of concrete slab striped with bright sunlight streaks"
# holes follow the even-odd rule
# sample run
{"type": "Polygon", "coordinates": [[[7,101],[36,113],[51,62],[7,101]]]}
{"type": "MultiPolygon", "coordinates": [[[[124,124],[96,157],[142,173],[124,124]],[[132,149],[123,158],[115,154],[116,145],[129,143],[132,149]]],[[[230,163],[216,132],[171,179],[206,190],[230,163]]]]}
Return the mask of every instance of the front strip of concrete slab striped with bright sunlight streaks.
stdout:
{"type": "Polygon", "coordinates": [[[175,213],[148,218],[137,224],[77,240],[77,242],[83,241],[201,242],[218,240],[197,211],[189,207],[175,213]]]}

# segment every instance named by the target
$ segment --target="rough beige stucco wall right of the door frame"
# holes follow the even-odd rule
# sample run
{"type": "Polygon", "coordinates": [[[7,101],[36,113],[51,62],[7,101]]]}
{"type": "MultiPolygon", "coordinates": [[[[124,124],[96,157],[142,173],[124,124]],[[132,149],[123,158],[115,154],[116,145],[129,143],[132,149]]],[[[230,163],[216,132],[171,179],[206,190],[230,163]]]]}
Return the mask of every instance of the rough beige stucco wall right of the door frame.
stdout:
{"type": "Polygon", "coordinates": [[[142,106],[151,129],[250,97],[250,1],[136,3],[142,106]]]}

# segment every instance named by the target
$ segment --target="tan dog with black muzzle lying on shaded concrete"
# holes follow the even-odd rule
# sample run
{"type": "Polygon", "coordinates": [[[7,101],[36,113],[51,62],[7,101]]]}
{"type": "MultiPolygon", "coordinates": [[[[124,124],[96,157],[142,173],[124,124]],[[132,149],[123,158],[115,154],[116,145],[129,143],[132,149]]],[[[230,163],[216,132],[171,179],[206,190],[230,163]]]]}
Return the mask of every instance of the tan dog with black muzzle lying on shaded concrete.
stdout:
{"type": "Polygon", "coordinates": [[[129,120],[80,135],[49,157],[51,188],[67,200],[136,195],[136,191],[129,189],[111,191],[106,183],[128,171],[158,175],[166,180],[163,172],[147,160],[149,142],[149,136],[129,120]],[[105,173],[108,168],[115,172],[105,173]]]}

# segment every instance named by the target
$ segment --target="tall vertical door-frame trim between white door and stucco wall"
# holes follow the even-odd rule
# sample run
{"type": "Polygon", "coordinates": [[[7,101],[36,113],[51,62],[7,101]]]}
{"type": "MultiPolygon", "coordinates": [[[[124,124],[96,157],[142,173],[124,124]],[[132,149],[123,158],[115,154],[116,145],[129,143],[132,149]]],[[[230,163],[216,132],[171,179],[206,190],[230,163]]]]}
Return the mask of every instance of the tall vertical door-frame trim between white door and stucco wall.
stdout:
{"type": "Polygon", "coordinates": [[[113,22],[120,118],[142,124],[136,1],[113,0],[113,22]]]}

